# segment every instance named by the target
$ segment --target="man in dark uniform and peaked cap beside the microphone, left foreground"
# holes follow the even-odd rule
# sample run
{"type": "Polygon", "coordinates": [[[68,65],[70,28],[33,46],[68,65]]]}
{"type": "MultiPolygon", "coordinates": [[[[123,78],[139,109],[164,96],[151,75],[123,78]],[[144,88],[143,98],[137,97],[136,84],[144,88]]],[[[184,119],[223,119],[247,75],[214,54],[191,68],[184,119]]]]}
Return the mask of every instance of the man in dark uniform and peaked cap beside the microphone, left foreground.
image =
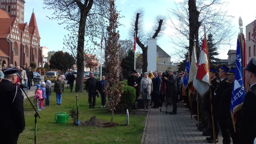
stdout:
{"type": "Polygon", "coordinates": [[[17,68],[3,68],[4,79],[0,82],[0,143],[17,143],[25,128],[21,89],[15,85],[17,68]]]}

